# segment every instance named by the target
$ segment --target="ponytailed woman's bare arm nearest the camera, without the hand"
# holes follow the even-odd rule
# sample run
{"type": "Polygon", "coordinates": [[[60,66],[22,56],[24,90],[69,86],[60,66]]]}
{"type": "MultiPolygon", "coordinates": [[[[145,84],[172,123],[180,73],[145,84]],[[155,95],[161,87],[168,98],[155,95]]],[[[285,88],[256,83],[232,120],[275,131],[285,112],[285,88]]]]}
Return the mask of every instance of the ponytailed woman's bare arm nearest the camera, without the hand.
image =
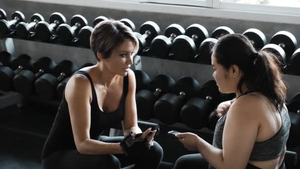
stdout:
{"type": "Polygon", "coordinates": [[[223,132],[223,150],[198,138],[201,155],[217,169],[245,169],[254,143],[259,123],[253,96],[243,96],[229,108],[223,132]]]}

